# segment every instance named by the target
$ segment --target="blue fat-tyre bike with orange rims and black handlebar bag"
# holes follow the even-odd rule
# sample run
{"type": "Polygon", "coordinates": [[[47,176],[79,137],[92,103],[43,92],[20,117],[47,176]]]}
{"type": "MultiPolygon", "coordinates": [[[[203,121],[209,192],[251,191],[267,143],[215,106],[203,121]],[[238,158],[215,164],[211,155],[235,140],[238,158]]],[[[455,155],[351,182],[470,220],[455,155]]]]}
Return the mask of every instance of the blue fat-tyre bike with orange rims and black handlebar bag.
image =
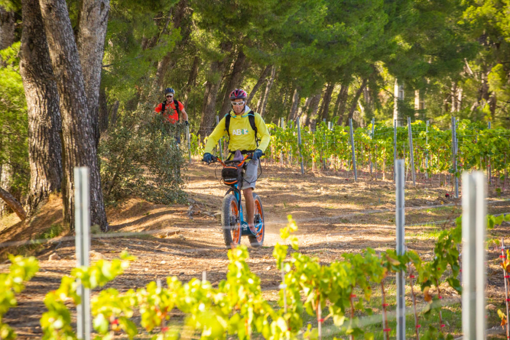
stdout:
{"type": "Polygon", "coordinates": [[[239,185],[244,180],[243,173],[246,168],[246,161],[251,159],[252,156],[253,153],[248,153],[241,161],[232,160],[225,162],[213,156],[213,161],[210,162],[223,165],[221,182],[230,187],[225,192],[221,205],[221,226],[226,246],[239,245],[242,236],[248,236],[253,247],[262,247],[264,243],[264,210],[262,209],[262,201],[259,195],[253,192],[253,200],[255,201],[253,229],[250,229],[248,222],[245,221],[241,205],[242,195],[239,185]]]}

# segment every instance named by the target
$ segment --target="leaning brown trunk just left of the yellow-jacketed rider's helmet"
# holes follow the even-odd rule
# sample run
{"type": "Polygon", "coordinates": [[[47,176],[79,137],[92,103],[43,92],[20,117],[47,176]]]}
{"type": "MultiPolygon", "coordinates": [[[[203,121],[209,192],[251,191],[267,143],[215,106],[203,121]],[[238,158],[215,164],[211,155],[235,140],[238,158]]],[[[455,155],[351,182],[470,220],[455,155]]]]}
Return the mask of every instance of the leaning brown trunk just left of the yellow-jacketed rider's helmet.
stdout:
{"type": "Polygon", "coordinates": [[[218,90],[220,88],[221,79],[225,71],[227,63],[227,53],[232,49],[232,43],[222,42],[221,51],[224,57],[221,60],[213,61],[211,63],[208,80],[206,84],[206,91],[204,93],[202,119],[200,122],[199,133],[201,137],[206,137],[213,130],[216,124],[216,99],[218,97],[218,90]]]}

